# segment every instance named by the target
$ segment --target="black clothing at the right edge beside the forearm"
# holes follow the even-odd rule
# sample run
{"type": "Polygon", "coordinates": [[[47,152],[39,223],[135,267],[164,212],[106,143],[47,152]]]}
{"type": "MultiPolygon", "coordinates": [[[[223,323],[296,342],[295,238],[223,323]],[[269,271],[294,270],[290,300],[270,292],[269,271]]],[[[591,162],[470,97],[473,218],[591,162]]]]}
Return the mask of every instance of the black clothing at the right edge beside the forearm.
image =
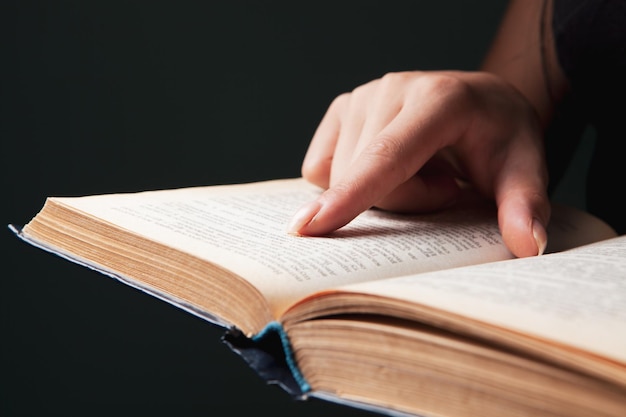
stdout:
{"type": "Polygon", "coordinates": [[[626,1],[554,0],[552,28],[571,95],[548,131],[548,163],[560,159],[555,166],[561,169],[558,150],[572,149],[585,125],[593,126],[587,209],[624,234],[626,204],[619,193],[626,184],[626,1]]]}

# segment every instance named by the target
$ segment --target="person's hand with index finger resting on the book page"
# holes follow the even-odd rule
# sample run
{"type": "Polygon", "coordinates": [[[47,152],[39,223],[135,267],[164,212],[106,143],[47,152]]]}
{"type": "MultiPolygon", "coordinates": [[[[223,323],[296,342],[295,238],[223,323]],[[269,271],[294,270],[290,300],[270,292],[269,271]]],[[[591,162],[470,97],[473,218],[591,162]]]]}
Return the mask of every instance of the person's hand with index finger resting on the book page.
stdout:
{"type": "Polygon", "coordinates": [[[542,130],[516,89],[485,72],[390,73],[337,97],[302,165],[326,189],[289,231],[319,236],[370,208],[425,212],[458,181],[493,198],[505,244],[543,253],[550,216],[542,130]]]}

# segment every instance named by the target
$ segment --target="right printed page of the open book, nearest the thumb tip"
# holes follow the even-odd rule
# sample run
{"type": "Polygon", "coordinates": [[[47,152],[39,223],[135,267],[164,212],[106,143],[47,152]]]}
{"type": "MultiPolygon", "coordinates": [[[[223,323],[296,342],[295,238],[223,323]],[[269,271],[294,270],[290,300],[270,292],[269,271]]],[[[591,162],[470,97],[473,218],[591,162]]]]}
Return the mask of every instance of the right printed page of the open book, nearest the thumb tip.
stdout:
{"type": "Polygon", "coordinates": [[[626,365],[626,236],[346,289],[432,306],[626,365]]]}

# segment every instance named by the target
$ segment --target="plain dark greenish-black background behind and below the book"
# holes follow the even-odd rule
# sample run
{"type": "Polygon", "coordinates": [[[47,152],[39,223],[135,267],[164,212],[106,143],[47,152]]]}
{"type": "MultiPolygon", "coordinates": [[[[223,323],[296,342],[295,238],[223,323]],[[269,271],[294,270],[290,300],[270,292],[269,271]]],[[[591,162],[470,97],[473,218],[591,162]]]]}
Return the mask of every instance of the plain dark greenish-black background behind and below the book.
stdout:
{"type": "MultiPolygon", "coordinates": [[[[505,1],[3,1],[2,216],[49,195],[299,175],[330,101],[475,69],[505,1]]],[[[297,402],[222,330],[2,239],[3,416],[367,414],[297,402]]]]}

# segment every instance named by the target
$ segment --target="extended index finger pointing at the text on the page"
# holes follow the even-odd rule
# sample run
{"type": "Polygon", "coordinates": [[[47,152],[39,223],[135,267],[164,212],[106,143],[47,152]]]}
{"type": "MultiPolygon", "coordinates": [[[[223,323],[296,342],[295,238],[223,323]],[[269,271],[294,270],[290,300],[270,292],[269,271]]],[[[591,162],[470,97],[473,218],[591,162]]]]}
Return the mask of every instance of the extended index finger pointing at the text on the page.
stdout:
{"type": "Polygon", "coordinates": [[[336,230],[411,179],[440,148],[460,135],[446,112],[403,109],[369,143],[346,173],[298,211],[292,233],[319,236],[336,230]]]}

